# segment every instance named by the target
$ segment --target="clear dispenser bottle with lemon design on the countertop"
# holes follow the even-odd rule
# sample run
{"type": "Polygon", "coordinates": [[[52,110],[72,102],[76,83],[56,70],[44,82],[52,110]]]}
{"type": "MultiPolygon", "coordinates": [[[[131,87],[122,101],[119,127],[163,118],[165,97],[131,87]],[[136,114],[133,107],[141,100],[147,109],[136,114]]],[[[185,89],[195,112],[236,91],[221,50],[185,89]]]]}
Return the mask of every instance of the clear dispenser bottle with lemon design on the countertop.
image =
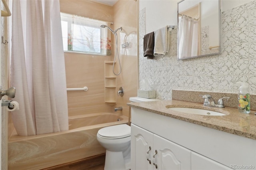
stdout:
{"type": "Polygon", "coordinates": [[[250,92],[248,83],[238,82],[238,111],[240,113],[250,113],[250,92]]]}

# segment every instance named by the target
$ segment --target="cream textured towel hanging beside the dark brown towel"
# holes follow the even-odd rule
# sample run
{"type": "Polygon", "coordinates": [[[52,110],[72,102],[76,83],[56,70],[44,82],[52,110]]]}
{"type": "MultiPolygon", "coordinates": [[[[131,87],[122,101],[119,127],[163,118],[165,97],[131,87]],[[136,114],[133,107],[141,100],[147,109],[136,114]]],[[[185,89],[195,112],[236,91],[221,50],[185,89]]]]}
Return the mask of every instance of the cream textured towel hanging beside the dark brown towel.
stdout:
{"type": "Polygon", "coordinates": [[[154,56],[165,55],[168,53],[170,48],[170,33],[168,32],[168,26],[160,28],[154,32],[155,34],[155,45],[154,45],[154,56]]]}

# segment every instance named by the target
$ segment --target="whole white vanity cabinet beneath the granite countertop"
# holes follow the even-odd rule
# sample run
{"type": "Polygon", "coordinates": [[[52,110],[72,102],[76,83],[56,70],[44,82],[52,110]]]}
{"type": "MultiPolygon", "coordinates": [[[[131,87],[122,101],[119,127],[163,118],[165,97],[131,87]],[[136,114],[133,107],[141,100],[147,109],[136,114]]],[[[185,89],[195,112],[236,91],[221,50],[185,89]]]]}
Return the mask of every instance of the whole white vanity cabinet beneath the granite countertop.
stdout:
{"type": "Polygon", "coordinates": [[[134,107],[131,114],[131,170],[256,168],[256,140],[134,107]]]}

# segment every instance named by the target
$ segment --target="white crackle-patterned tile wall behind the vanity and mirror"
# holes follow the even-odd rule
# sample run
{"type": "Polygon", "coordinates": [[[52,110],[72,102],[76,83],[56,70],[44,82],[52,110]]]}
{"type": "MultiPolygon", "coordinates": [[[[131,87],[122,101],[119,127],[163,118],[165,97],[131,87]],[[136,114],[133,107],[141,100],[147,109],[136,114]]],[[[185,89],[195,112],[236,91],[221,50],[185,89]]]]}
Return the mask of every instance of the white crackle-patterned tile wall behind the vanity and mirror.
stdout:
{"type": "Polygon", "coordinates": [[[256,1],[222,12],[220,55],[186,60],[177,60],[177,29],[170,31],[167,55],[143,56],[145,11],[139,13],[140,87],[146,79],[158,99],[172,99],[172,89],[237,93],[236,82],[242,81],[256,93],[256,1]]]}

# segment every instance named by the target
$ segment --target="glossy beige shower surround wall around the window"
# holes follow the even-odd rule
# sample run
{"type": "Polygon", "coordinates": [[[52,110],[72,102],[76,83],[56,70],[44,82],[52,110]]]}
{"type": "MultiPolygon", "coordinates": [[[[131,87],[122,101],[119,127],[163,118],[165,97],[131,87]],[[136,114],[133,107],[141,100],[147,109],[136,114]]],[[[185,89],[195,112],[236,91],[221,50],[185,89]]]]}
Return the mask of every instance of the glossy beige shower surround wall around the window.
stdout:
{"type": "MultiPolygon", "coordinates": [[[[118,111],[118,113],[128,116],[129,107],[126,103],[129,103],[129,97],[137,95],[138,86],[137,2],[134,0],[120,0],[114,6],[107,6],[88,0],[74,0],[72,3],[67,0],[60,0],[60,11],[114,22],[112,25],[113,30],[122,27],[122,31],[117,32],[122,73],[117,76],[117,88],[112,94],[112,96],[116,95],[117,99],[117,103],[114,106],[107,105],[104,101],[104,61],[114,60],[115,41],[112,43],[112,55],[110,56],[64,53],[67,87],[88,87],[86,92],[68,91],[68,115],[114,112],[114,107],[122,106],[123,110],[118,111]],[[121,44],[126,42],[130,43],[129,47],[122,48],[121,44]],[[125,93],[123,97],[117,94],[119,87],[124,87],[125,93]]],[[[113,34],[112,40],[114,40],[113,34]]]]}

